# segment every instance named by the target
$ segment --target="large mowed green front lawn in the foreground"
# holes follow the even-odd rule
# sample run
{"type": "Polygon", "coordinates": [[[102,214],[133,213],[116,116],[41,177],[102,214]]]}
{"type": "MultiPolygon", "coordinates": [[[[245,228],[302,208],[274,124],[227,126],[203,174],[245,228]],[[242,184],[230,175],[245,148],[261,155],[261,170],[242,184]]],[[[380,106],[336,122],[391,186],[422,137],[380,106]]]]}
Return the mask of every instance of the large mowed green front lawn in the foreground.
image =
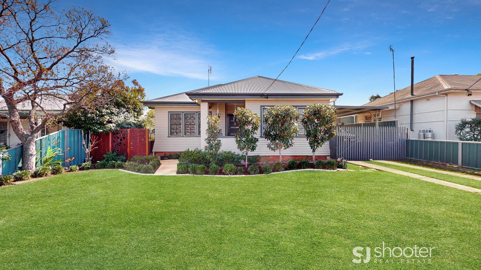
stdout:
{"type": "Polygon", "coordinates": [[[480,195],[349,168],[102,170],[0,188],[0,269],[479,269],[480,195]],[[435,249],[431,263],[351,261],[382,242],[435,249]]]}

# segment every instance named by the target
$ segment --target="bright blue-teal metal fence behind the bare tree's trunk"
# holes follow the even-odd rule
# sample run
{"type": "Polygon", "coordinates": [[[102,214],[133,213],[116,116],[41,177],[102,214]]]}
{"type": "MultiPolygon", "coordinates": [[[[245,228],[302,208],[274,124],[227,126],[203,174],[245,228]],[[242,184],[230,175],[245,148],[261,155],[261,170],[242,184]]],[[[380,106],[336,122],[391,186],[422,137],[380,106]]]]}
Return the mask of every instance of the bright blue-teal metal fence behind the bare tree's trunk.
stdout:
{"type": "MultiPolygon", "coordinates": [[[[88,136],[86,139],[89,140],[88,136]]],[[[88,141],[87,141],[88,142],[88,141]]],[[[56,160],[62,160],[63,166],[80,165],[87,158],[82,148],[82,131],[80,129],[63,129],[35,140],[38,157],[43,158],[48,148],[61,148],[63,156],[58,155],[56,160]],[[65,160],[74,158],[66,164],[65,160]]],[[[12,156],[12,160],[1,161],[1,174],[12,174],[22,166],[23,145],[18,145],[5,150],[12,156]]],[[[37,164],[38,165],[38,164],[37,164]]]]}

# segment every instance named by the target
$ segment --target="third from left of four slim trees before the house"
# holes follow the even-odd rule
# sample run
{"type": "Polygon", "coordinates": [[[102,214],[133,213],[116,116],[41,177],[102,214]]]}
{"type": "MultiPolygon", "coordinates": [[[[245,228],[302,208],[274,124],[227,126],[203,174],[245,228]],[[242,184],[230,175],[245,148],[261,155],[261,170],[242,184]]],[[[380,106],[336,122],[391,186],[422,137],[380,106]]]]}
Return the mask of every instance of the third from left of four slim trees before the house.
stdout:
{"type": "Polygon", "coordinates": [[[291,105],[279,104],[267,108],[265,130],[266,139],[270,142],[267,148],[279,151],[279,161],[282,162],[282,149],[292,147],[294,137],[299,131],[297,125],[299,112],[291,105]]]}

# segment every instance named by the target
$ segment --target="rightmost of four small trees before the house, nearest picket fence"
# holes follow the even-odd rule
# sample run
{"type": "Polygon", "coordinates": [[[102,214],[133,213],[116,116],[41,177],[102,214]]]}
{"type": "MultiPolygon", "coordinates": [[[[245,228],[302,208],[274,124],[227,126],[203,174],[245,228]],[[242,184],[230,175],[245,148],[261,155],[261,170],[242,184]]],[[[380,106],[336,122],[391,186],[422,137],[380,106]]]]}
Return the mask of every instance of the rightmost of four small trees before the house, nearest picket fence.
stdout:
{"type": "Polygon", "coordinates": [[[316,162],[316,150],[336,136],[336,109],[328,104],[307,105],[302,124],[312,149],[312,162],[316,162]]]}

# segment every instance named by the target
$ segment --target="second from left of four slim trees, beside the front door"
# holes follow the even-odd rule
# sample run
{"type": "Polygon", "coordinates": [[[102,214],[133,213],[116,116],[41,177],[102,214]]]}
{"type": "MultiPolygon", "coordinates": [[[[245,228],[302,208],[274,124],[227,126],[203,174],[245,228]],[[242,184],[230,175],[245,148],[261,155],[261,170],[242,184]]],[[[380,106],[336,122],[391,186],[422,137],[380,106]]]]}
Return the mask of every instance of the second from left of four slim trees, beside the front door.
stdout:
{"type": "Polygon", "coordinates": [[[247,155],[257,148],[257,142],[259,141],[255,133],[261,124],[261,118],[252,110],[246,108],[237,108],[234,117],[239,125],[239,130],[236,133],[237,149],[245,151],[245,167],[247,168],[247,155]]]}

